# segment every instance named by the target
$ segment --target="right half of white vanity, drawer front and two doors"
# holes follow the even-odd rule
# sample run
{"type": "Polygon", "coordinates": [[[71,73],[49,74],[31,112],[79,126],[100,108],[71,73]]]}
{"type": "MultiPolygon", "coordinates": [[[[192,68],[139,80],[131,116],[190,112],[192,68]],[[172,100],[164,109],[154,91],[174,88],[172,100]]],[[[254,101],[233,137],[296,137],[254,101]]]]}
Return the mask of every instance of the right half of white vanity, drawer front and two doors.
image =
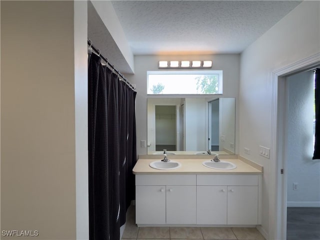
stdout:
{"type": "Polygon", "coordinates": [[[260,224],[259,175],[197,175],[197,224],[260,224]]]}

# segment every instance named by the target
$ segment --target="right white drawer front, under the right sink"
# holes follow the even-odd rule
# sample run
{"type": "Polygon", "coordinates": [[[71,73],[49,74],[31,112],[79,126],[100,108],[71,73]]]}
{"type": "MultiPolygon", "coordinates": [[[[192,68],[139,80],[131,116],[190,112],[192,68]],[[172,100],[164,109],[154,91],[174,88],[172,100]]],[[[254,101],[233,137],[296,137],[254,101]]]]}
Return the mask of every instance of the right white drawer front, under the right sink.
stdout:
{"type": "Polygon", "coordinates": [[[197,185],[257,186],[258,175],[196,175],[197,185]]]}

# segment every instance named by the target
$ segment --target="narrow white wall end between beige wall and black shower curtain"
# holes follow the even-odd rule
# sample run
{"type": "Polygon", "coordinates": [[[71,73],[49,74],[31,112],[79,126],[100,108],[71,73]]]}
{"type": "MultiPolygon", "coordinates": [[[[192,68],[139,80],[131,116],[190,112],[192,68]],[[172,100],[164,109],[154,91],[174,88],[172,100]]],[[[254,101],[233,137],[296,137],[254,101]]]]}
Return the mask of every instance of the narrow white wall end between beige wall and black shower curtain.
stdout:
{"type": "Polygon", "coordinates": [[[74,1],[76,239],[89,238],[87,1],[74,1]]]}

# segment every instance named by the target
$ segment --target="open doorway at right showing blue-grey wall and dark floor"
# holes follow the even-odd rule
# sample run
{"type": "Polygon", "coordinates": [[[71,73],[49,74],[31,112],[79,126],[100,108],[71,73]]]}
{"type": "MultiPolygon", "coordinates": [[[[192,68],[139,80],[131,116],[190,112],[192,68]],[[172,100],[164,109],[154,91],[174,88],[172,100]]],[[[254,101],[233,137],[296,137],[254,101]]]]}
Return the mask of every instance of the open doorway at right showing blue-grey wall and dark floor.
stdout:
{"type": "Polygon", "coordinates": [[[312,160],[314,71],[289,75],[285,81],[286,239],[320,239],[320,160],[312,160]]]}

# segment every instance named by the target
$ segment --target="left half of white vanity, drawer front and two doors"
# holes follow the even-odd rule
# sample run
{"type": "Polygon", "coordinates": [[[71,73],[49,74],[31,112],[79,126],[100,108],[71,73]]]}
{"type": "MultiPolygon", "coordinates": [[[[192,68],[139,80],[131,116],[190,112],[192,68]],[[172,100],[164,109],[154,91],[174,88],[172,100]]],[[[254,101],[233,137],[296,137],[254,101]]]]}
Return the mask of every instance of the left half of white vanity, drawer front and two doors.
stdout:
{"type": "Polygon", "coordinates": [[[136,175],[136,224],[195,224],[195,183],[195,175],[136,175]]]}

